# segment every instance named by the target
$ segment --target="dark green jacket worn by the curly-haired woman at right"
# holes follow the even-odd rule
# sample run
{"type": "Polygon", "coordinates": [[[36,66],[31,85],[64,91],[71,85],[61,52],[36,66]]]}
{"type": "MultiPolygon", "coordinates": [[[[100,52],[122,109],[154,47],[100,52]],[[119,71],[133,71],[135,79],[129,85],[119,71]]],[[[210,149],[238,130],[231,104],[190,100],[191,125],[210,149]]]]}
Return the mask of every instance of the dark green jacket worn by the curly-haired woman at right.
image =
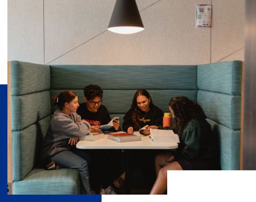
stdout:
{"type": "MultiPolygon", "coordinates": [[[[170,127],[159,127],[171,130],[170,127]]],[[[206,121],[190,120],[184,127],[180,143],[175,152],[175,160],[179,159],[209,159],[218,157],[218,141],[213,134],[211,125],[206,121]]]]}

